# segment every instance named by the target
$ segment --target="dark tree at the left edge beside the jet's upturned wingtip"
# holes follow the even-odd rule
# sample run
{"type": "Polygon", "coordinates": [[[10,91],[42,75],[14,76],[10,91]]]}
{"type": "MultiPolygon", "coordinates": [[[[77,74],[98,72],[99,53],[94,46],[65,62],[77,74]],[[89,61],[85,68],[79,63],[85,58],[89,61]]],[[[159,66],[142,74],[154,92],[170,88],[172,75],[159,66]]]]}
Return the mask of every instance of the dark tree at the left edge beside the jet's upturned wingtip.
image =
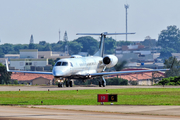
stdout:
{"type": "Polygon", "coordinates": [[[10,83],[11,73],[7,72],[6,67],[0,63],[0,84],[10,83]]]}

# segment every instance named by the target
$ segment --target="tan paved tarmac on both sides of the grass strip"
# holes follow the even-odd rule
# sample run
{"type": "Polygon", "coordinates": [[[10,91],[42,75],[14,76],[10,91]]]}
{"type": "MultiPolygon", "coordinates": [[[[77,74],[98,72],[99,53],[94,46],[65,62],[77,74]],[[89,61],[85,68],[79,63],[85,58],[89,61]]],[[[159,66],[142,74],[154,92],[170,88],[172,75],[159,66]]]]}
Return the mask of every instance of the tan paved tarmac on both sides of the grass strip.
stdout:
{"type": "MultiPolygon", "coordinates": [[[[168,86],[180,88],[179,86],[168,86]]],[[[162,86],[107,86],[72,87],[56,86],[0,86],[0,91],[55,91],[83,89],[163,88],[162,86]]],[[[167,86],[165,86],[167,88],[167,86]]],[[[131,105],[32,105],[0,106],[0,120],[179,120],[180,106],[131,105]]]]}

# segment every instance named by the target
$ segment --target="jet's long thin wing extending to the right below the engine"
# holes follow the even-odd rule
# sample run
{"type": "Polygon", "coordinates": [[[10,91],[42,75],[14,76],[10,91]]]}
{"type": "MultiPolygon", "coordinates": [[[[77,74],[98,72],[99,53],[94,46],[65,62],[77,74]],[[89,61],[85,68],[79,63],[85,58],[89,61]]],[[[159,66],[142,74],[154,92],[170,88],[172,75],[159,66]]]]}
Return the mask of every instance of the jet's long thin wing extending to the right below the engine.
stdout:
{"type": "Polygon", "coordinates": [[[92,74],[90,74],[90,75],[91,75],[91,76],[103,76],[103,75],[129,74],[129,73],[140,73],[140,72],[157,72],[157,71],[167,71],[167,70],[169,70],[169,69],[117,71],[117,72],[92,73],[92,74]]]}

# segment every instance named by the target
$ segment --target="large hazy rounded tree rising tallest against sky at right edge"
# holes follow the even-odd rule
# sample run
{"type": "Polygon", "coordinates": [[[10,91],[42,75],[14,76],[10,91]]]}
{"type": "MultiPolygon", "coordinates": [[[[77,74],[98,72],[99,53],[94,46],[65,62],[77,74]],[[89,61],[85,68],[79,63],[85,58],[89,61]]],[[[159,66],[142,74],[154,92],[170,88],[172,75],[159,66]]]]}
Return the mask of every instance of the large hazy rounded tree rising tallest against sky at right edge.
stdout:
{"type": "Polygon", "coordinates": [[[177,26],[168,26],[166,30],[162,30],[157,45],[164,49],[170,48],[175,52],[180,52],[180,30],[177,26]]]}

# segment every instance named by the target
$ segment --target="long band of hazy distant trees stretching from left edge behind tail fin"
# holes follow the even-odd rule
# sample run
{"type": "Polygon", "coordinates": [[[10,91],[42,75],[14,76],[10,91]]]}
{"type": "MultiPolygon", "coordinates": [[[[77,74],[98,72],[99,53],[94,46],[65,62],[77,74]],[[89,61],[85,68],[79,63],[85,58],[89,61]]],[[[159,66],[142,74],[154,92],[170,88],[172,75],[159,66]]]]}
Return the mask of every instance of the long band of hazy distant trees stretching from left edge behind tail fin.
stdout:
{"type": "MultiPolygon", "coordinates": [[[[129,45],[130,42],[116,41],[112,37],[105,39],[105,53],[114,54],[116,45],[129,45]]],[[[38,49],[38,51],[59,51],[64,52],[65,46],[68,46],[70,55],[78,54],[79,52],[88,52],[93,55],[99,48],[99,41],[90,36],[79,37],[73,41],[58,41],[57,43],[48,43],[40,41],[38,44],[10,44],[5,43],[0,45],[0,58],[5,54],[19,54],[20,49],[38,49]]]]}

